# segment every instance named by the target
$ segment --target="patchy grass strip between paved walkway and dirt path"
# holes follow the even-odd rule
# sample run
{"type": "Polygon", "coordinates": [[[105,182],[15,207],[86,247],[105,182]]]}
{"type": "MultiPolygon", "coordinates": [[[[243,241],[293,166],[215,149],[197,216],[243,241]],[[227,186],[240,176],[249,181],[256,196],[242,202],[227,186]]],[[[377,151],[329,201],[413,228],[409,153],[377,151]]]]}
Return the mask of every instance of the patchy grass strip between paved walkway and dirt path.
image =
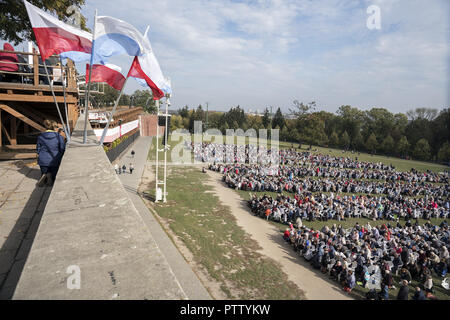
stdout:
{"type": "MultiPolygon", "coordinates": [[[[257,243],[235,221],[228,207],[208,193],[198,168],[170,167],[170,200],[154,209],[218,283],[228,299],[304,299],[280,266],[262,256],[257,243]]],[[[154,184],[148,186],[154,195],[154,184]]]]}

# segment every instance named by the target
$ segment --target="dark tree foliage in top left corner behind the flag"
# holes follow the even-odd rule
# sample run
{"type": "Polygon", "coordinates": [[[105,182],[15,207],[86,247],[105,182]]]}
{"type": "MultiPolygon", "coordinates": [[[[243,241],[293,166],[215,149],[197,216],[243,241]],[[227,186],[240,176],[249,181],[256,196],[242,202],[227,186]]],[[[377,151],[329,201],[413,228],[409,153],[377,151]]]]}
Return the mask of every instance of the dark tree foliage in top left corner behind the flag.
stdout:
{"type": "MultiPolygon", "coordinates": [[[[29,0],[30,3],[43,9],[64,22],[70,21],[73,14],[69,7],[75,6],[80,9],[85,0],[29,0]]],[[[15,45],[25,40],[35,41],[31,22],[23,1],[2,0],[0,1],[0,39],[13,42],[15,45]]],[[[86,28],[86,18],[80,15],[80,27],[86,28]]]]}

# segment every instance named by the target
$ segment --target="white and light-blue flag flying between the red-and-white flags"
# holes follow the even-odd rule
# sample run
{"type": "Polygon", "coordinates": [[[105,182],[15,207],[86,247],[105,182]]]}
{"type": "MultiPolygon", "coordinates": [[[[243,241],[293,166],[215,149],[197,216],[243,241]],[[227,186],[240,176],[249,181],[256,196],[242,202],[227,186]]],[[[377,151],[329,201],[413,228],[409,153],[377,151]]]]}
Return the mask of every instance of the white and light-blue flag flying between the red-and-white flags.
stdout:
{"type": "Polygon", "coordinates": [[[131,24],[108,16],[96,20],[93,64],[105,65],[115,55],[142,55],[142,34],[131,24]]]}

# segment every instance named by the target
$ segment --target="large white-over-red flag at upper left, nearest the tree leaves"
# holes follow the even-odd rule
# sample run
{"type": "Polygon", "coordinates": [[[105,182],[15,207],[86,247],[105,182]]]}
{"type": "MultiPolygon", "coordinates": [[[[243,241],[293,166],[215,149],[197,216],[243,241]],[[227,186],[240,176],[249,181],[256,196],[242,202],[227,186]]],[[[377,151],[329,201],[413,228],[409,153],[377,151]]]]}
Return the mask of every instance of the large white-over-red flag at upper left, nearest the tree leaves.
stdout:
{"type": "MultiPolygon", "coordinates": [[[[90,58],[92,34],[59,21],[25,0],[23,2],[43,61],[53,54],[64,52],[73,53],[78,61],[90,58]]],[[[65,57],[71,58],[70,55],[65,57]]]]}

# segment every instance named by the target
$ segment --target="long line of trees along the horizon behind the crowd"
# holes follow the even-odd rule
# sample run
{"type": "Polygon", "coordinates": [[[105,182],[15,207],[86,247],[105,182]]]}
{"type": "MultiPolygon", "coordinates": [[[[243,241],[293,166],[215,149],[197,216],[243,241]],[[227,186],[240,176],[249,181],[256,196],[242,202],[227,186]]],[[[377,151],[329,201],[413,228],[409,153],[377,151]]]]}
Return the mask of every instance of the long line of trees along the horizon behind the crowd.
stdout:
{"type": "MultiPolygon", "coordinates": [[[[217,128],[222,134],[238,128],[279,129],[281,141],[450,162],[450,108],[417,108],[395,114],[385,108],[360,110],[349,105],[341,106],[336,113],[316,109],[315,102],[294,100],[289,109],[293,118],[286,118],[280,108],[273,115],[268,108],[262,115],[250,115],[237,106],[228,112],[208,112],[207,127],[217,128]]],[[[192,133],[194,121],[203,121],[203,129],[207,129],[206,111],[201,105],[179,109],[172,116],[171,130],[184,128],[192,133]]]]}

